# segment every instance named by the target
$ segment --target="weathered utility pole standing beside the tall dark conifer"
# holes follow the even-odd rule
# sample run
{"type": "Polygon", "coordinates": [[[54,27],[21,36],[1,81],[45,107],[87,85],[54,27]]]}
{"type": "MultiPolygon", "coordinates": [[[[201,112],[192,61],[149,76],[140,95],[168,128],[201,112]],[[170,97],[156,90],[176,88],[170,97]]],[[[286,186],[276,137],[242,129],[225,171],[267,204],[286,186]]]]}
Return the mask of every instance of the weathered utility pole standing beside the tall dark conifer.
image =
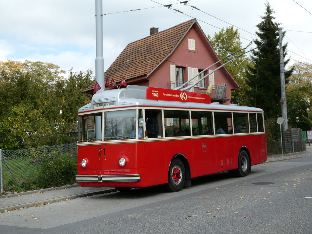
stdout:
{"type": "Polygon", "coordinates": [[[278,34],[280,38],[280,89],[281,89],[281,94],[282,94],[282,98],[281,98],[282,117],[284,119],[283,133],[285,133],[285,131],[288,129],[288,121],[287,121],[287,103],[286,103],[286,92],[285,92],[285,69],[284,69],[284,58],[283,58],[282,28],[278,28],[278,34]]]}

